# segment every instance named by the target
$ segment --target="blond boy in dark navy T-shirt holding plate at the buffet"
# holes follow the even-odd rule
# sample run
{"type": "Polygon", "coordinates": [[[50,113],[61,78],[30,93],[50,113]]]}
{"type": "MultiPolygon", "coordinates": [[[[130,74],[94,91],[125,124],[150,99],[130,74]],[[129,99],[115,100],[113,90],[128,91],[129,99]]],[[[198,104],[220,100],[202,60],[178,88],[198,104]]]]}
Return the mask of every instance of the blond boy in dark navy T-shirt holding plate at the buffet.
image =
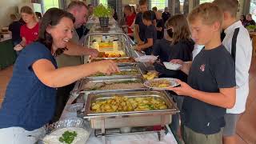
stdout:
{"type": "Polygon", "coordinates": [[[213,3],[203,3],[188,16],[194,41],[204,49],[193,62],[182,62],[188,80],[178,80],[180,87],[170,88],[184,95],[182,138],[185,143],[222,144],[226,108],[235,103],[235,69],[230,53],[222,46],[222,10],[213,3]]]}

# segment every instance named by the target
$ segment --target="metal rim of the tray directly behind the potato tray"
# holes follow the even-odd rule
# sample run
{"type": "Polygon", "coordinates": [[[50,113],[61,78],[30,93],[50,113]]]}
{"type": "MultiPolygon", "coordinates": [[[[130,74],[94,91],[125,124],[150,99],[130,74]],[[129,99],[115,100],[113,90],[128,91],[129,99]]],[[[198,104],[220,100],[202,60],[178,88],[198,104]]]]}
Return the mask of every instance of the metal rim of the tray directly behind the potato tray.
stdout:
{"type": "MultiPolygon", "coordinates": [[[[101,78],[101,77],[95,77],[95,78],[84,78],[79,82],[78,85],[78,91],[76,93],[78,94],[79,92],[87,92],[90,93],[92,91],[94,92],[102,92],[102,91],[115,91],[115,90],[129,90],[129,89],[115,89],[115,90],[84,90],[83,86],[86,85],[89,82],[126,82],[126,81],[139,81],[144,83],[144,79],[141,76],[130,76],[130,77],[123,77],[123,78],[117,78],[117,77],[111,77],[111,78],[101,78]]],[[[145,89],[143,88],[135,88],[133,90],[142,90],[145,89]]]]}

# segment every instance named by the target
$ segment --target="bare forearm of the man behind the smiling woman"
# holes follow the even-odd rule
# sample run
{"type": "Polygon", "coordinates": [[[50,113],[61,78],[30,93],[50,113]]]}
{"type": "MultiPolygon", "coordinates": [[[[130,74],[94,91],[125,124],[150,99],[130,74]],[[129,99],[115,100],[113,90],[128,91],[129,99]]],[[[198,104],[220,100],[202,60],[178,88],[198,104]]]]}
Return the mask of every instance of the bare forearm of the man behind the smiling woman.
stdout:
{"type": "Polygon", "coordinates": [[[74,42],[67,42],[66,48],[68,50],[64,50],[64,54],[67,55],[90,55],[92,58],[96,58],[98,56],[98,50],[90,49],[86,46],[80,46],[74,42]]]}

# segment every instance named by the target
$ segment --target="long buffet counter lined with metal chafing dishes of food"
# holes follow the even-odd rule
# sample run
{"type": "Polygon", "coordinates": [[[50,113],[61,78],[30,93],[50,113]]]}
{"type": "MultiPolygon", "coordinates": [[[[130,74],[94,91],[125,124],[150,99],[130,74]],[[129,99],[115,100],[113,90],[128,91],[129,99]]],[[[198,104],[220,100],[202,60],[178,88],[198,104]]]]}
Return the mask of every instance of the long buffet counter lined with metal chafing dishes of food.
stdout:
{"type": "Polygon", "coordinates": [[[165,90],[150,90],[143,86],[145,79],[142,74],[154,70],[154,66],[134,61],[134,58],[144,54],[132,50],[134,43],[119,31],[118,26],[105,30],[94,26],[86,36],[84,45],[102,53],[98,58],[91,60],[92,62],[112,59],[117,62],[121,72],[116,75],[94,74],[76,82],[61,120],[83,118],[93,129],[86,142],[89,144],[176,144],[168,124],[171,122],[171,115],[179,112],[178,107],[165,90]],[[122,53],[119,53],[120,51],[122,53]],[[110,105],[108,107],[112,107],[111,110],[106,108],[107,111],[104,112],[103,109],[97,108],[97,105],[106,103],[103,101],[109,102],[105,107],[110,105]],[[114,101],[122,102],[118,110],[114,110],[114,101]],[[151,106],[148,110],[139,106],[139,103],[151,101],[157,105],[146,103],[146,106],[151,106]],[[134,106],[130,104],[135,103],[137,109],[132,110],[134,106]],[[119,110],[120,107],[123,110],[119,110]]]}

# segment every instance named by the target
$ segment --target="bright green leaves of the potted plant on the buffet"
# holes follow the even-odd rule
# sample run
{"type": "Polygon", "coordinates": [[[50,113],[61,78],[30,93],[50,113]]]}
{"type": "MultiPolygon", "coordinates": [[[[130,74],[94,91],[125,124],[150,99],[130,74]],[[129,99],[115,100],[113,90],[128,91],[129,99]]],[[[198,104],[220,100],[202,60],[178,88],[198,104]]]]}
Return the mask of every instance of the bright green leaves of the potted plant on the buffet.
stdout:
{"type": "Polygon", "coordinates": [[[108,6],[103,6],[102,4],[94,8],[94,16],[98,18],[110,18],[112,16],[113,10],[108,6]]]}

